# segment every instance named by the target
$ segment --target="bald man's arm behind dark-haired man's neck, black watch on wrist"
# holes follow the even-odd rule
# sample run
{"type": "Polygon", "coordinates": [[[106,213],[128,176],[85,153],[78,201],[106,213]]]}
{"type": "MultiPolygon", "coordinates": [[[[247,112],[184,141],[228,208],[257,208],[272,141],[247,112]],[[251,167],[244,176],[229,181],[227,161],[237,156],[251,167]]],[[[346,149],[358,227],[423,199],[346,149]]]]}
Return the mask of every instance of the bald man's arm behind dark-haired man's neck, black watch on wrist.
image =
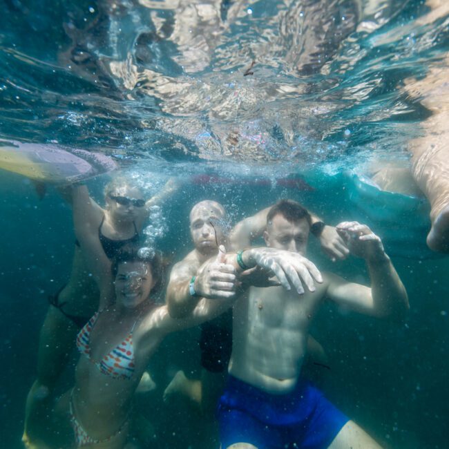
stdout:
{"type": "MultiPolygon", "coordinates": [[[[247,248],[251,246],[251,242],[262,236],[267,226],[267,215],[270,209],[271,206],[262,209],[254,216],[241,220],[233,227],[229,235],[231,249],[237,251],[238,249],[247,248]]],[[[325,225],[321,218],[314,213],[309,211],[309,214],[312,218],[312,233],[320,240],[321,249],[323,249],[325,254],[332,260],[346,258],[349,250],[343,239],[336,232],[336,229],[325,225]]]]}

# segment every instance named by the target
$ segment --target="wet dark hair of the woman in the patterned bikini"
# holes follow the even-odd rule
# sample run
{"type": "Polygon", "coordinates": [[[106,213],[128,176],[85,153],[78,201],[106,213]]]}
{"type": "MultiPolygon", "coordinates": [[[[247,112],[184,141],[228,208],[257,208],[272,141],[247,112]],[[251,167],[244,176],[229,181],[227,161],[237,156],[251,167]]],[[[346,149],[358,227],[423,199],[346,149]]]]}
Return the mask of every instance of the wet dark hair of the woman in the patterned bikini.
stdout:
{"type": "Polygon", "coordinates": [[[113,279],[117,276],[119,265],[125,262],[143,262],[151,267],[151,275],[155,282],[152,293],[156,293],[162,285],[162,260],[157,251],[139,247],[137,245],[125,245],[117,252],[111,265],[113,279]],[[143,251],[140,251],[143,250],[143,251]]]}

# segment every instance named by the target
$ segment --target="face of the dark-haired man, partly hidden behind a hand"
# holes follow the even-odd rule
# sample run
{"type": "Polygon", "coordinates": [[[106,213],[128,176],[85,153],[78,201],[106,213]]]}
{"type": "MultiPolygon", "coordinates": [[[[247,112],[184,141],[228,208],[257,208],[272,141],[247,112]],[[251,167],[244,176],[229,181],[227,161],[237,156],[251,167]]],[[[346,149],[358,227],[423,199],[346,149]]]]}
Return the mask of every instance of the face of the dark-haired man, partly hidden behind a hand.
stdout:
{"type": "Polygon", "coordinates": [[[278,213],[267,224],[267,231],[264,232],[265,243],[271,248],[286,249],[305,256],[309,229],[309,222],[305,218],[289,222],[278,213]]]}

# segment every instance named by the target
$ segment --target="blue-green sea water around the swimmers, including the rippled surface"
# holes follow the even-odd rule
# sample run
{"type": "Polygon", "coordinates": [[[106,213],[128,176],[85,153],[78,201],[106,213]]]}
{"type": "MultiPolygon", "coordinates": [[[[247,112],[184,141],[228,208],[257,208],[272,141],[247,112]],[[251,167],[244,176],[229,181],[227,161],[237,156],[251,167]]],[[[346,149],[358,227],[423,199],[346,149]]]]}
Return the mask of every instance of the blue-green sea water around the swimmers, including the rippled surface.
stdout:
{"type": "MultiPolygon", "coordinates": [[[[281,197],[334,225],[369,222],[408,289],[410,316],[398,326],[323,309],[314,334],[332,370],[318,380],[386,447],[448,447],[449,262],[426,249],[428,204],[361,197],[347,173],[373,161],[409,166],[407,144],[431,113],[405,79],[442,64],[447,12],[428,19],[424,1],[400,0],[0,5],[0,138],[102,151],[149,194],[180,178],[157,224],[173,260],[189,251],[187,216],[204,198],[234,222],[281,197]],[[277,183],[286,178],[307,184],[277,183]],[[391,210],[399,216],[385,218],[391,210]]],[[[100,202],[107,180],[88,184],[100,202]]],[[[68,278],[74,237],[51,187],[39,200],[26,178],[1,171],[0,192],[0,446],[15,449],[46,298],[68,278]]],[[[331,265],[312,250],[320,267],[366,279],[359,261],[331,265]]],[[[161,399],[173,371],[198,374],[196,339],[173,336],[152,361],[161,387],[140,407],[159,426],[156,448],[213,447],[198,437],[199,414],[188,423],[182,403],[161,399]]]]}

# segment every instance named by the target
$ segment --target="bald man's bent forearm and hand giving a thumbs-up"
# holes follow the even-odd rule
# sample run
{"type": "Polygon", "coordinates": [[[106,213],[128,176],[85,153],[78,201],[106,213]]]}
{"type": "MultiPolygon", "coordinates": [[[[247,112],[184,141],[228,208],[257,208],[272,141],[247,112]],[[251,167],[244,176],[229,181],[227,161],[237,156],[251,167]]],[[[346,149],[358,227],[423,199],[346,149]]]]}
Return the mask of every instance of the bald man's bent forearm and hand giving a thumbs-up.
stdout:
{"type": "Polygon", "coordinates": [[[218,255],[204,262],[198,270],[192,270],[192,265],[187,256],[171,271],[166,303],[173,318],[187,316],[200,298],[232,299],[236,295],[236,273],[233,265],[226,262],[225,247],[220,246],[218,255]]]}

